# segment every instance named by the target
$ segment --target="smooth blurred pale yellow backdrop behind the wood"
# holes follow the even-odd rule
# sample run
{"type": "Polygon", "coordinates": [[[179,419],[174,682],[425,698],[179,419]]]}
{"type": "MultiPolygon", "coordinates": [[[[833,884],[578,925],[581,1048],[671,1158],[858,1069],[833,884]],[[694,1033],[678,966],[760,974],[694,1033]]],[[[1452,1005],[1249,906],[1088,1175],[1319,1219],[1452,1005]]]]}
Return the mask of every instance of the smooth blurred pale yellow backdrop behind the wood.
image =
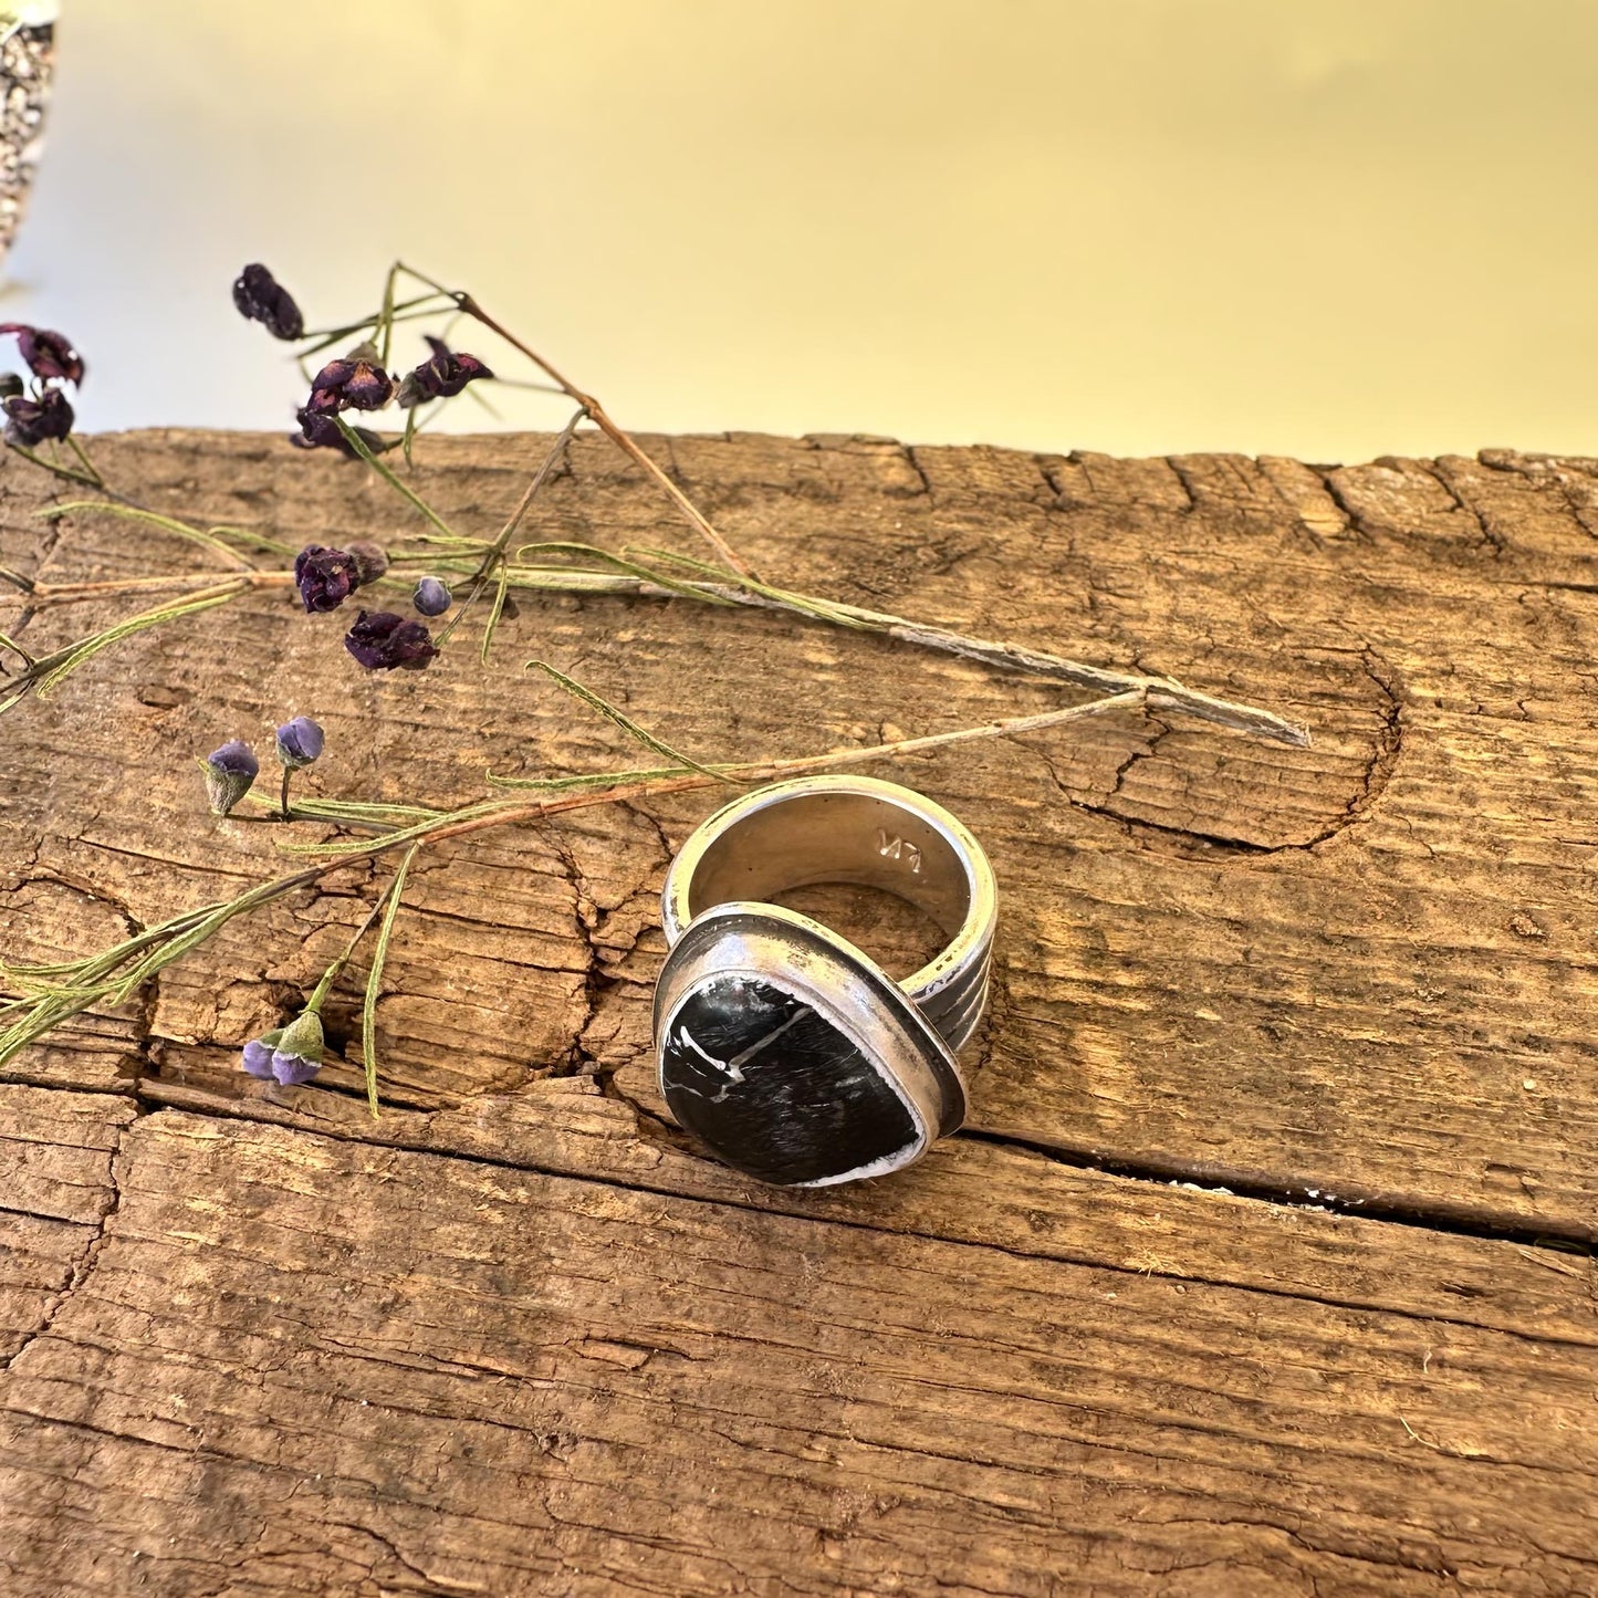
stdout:
{"type": "Polygon", "coordinates": [[[89,427],[288,425],[237,268],[331,321],[403,252],[642,428],[1598,452],[1593,5],[62,11],[3,310],[89,427]]]}

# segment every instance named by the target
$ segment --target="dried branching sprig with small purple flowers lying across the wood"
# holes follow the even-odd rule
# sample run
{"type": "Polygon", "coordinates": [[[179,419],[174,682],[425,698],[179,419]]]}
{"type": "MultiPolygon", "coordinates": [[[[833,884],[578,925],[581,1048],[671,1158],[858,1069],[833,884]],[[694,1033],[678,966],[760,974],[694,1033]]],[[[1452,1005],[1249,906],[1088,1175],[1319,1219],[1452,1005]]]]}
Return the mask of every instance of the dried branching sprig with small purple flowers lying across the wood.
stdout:
{"type": "MultiPolygon", "coordinates": [[[[219,815],[233,815],[238,821],[324,823],[336,828],[334,837],[284,841],[281,844],[289,853],[315,855],[315,863],[259,884],[233,900],[173,917],[160,927],[149,928],[112,949],[81,960],[46,965],[6,965],[0,962],[0,981],[8,983],[16,991],[16,997],[0,1002],[0,1018],[10,1018],[5,1029],[0,1031],[0,1063],[74,1015],[123,1002],[139,986],[157,978],[169,964],[221,932],[232,919],[308,887],[326,873],[350,861],[372,860],[392,850],[404,850],[388,887],[352,936],[345,952],[323,973],[299,1016],[251,1040],[241,1058],[246,1072],[268,1077],[278,1085],[297,1085],[310,1080],[320,1071],[323,1059],[321,1004],[339,973],[348,965],[361,938],[377,925],[363,1004],[366,1090],[372,1114],[377,1114],[376,1010],[382,968],[400,914],[407,871],[417,852],[425,847],[489,828],[535,825],[580,805],[628,802],[655,794],[703,788],[711,783],[767,781],[805,772],[834,770],[962,741],[1023,735],[1088,716],[1141,706],[1192,714],[1218,725],[1288,745],[1309,741],[1302,727],[1282,716],[1200,694],[1167,678],[1109,671],[1026,646],[970,638],[936,625],[797,593],[757,578],[687,495],[649,459],[636,441],[617,427],[598,400],[577,388],[526,344],[507,332],[470,294],[447,289],[401,264],[390,268],[382,307],[377,313],[344,328],[308,336],[304,334],[304,318],[297,304],[264,267],[246,268],[235,284],[235,300],[246,316],[265,323],[276,337],[292,342],[299,342],[302,337],[308,339],[300,350],[300,361],[307,372],[310,395],[297,414],[300,433],[296,443],[305,447],[332,446],[350,459],[364,462],[411,510],[422,516],[427,524],[425,531],[415,532],[387,550],[356,540],[339,550],[312,545],[296,551],[264,534],[230,527],[198,527],[134,503],[105,484],[86,454],[81,452],[77,439],[70,438],[70,430],[64,436],[67,436],[69,446],[77,451],[77,467],[59,459],[50,460],[37,455],[26,441],[8,438],[8,446],[16,454],[54,473],[61,481],[81,484],[104,495],[94,500],[80,499],[54,505],[45,515],[105,513],[123,516],[152,531],[158,529],[182,539],[208,556],[224,559],[230,570],[225,575],[195,572],[59,585],[0,570],[0,578],[8,580],[22,593],[24,622],[18,625],[18,631],[26,626],[30,615],[53,606],[105,599],[117,594],[153,593],[163,596],[153,607],[42,657],[32,655],[14,636],[0,633],[0,650],[10,652],[21,662],[21,668],[13,670],[0,660],[0,692],[10,695],[0,700],[0,711],[18,705],[30,692],[48,694],[85,660],[136,631],[165,625],[254,593],[296,591],[305,610],[328,612],[345,604],[358,590],[366,588],[403,593],[414,612],[412,617],[406,617],[395,610],[360,610],[345,634],[345,649],[368,670],[427,668],[476,602],[484,594],[492,593],[479,647],[479,657],[486,663],[510,593],[558,591],[631,599],[687,599],[697,604],[773,610],[826,626],[873,633],[919,649],[952,654],[1000,670],[1021,671],[1083,687],[1099,697],[1083,705],[1034,716],[1005,718],[978,727],[922,738],[901,738],[868,748],[833,749],[823,754],[770,762],[702,762],[657,738],[555,666],[529,662],[529,670],[543,671],[567,694],[604,716],[663,764],[537,778],[503,777],[489,772],[486,773],[487,781],[500,793],[495,797],[452,809],[316,797],[291,802],[291,773],[315,761],[323,746],[321,729],[310,718],[294,718],[276,730],[275,741],[283,767],[283,786],[275,802],[252,789],[257,767],[254,756],[241,743],[225,745],[201,765],[206,769],[213,809],[219,815]],[[398,299],[396,283],[401,276],[417,281],[425,292],[411,299],[398,299]],[[521,352],[550,379],[548,385],[534,384],[531,387],[548,387],[550,392],[575,401],[575,409],[564,428],[548,447],[516,507],[492,539],[470,537],[452,527],[384,459],[396,443],[403,443],[404,459],[409,460],[409,447],[420,427],[419,411],[423,406],[431,406],[430,414],[435,414],[438,406],[451,403],[463,393],[476,395],[475,385],[495,380],[494,372],[481,358],[455,352],[443,337],[431,334],[427,336],[430,358],[403,379],[393,376],[395,328],[401,323],[436,316],[439,312],[476,320],[521,352]],[[308,356],[344,344],[350,337],[358,339],[355,347],[323,361],[315,376],[310,376],[308,368],[304,366],[308,356]],[[406,412],[404,435],[400,441],[384,439],[348,420],[352,411],[377,412],[388,404],[406,412]],[[642,467],[694,531],[711,545],[716,553],[714,561],[647,548],[614,553],[575,542],[534,540],[513,547],[535,497],[562,463],[572,439],[585,423],[598,427],[642,467]],[[268,559],[292,559],[292,569],[268,567],[268,559]],[[396,569],[417,564],[425,566],[419,582],[414,580],[414,574],[401,574],[396,569]],[[452,606],[454,615],[443,625],[436,638],[423,620],[414,618],[415,615],[425,618],[444,615],[452,606]],[[513,793],[507,794],[507,789],[513,793]],[[350,837],[352,831],[368,836],[350,837]]],[[[77,361],[77,377],[81,376],[81,361],[59,336],[45,336],[37,329],[34,332],[32,348],[40,363],[34,368],[35,382],[43,387],[35,388],[32,398],[43,404],[48,393],[58,392],[51,385],[77,380],[72,374],[74,361],[77,361]]],[[[26,393],[21,396],[26,398],[26,393]]]]}

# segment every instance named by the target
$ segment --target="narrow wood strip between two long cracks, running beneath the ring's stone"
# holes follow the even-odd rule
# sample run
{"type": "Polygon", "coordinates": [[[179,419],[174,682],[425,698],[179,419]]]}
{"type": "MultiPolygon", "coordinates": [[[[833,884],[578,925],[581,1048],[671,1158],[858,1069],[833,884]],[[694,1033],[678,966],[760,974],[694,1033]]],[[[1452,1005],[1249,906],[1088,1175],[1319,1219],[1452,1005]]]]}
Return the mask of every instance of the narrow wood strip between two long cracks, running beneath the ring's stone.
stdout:
{"type": "MultiPolygon", "coordinates": [[[[195,1067],[193,1075],[208,1075],[198,1061],[195,1067]]],[[[949,1139],[892,1181],[807,1192],[767,1187],[700,1159],[681,1135],[583,1077],[555,1077],[459,1109],[390,1111],[377,1122],[344,1095],[256,1093],[240,1083],[224,1096],[171,1080],[149,1083],[147,1093],[197,1114],[735,1210],[1598,1346],[1598,1262],[1590,1256],[1366,1221],[1320,1205],[1264,1203],[1191,1183],[1128,1179],[1004,1143],[949,1139]]]]}

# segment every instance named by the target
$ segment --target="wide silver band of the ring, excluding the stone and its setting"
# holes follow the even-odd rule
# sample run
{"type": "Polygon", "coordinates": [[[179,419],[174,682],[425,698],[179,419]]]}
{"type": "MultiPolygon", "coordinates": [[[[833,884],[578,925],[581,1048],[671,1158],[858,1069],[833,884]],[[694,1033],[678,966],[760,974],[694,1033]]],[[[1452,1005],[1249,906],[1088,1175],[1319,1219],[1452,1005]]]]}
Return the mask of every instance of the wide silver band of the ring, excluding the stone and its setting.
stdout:
{"type": "Polygon", "coordinates": [[[884,888],[924,909],[944,951],[900,988],[952,1051],[988,1004],[999,892],[981,844],[943,805],[874,777],[797,777],[733,799],[671,861],[666,944],[713,904],[769,901],[815,882],[884,888]]]}

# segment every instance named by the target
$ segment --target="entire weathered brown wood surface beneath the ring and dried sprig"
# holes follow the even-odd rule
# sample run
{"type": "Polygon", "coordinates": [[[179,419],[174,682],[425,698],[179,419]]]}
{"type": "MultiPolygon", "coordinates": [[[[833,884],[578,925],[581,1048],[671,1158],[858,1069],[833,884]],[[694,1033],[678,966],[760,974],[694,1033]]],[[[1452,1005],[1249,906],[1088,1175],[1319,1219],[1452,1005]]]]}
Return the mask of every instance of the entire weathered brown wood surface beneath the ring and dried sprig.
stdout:
{"type": "MultiPolygon", "coordinates": [[[[657,895],[708,796],[420,855],[376,1122],[360,964],[316,1083],[237,1050],[388,866],[30,1050],[0,1087],[6,1590],[1598,1592],[1593,1264],[1537,1246],[1598,1235],[1598,463],[646,443],[767,577],[1315,743],[1128,716],[882,769],[1004,895],[972,1128],[892,1181],[759,1189],[658,1119],[657,895]]],[[[540,451],[430,439],[419,483],[492,529],[540,451]]],[[[96,455],[203,521],[414,531],[280,441],[96,455]]],[[[46,531],[53,495],[0,471],[0,566],[195,564],[105,518],[46,531]]],[[[588,439],[527,535],[690,548],[588,439]]],[[[0,630],[121,614],[0,602],[0,630]]],[[[192,759],[291,714],[329,733],[308,791],[463,802],[484,769],[631,759],[532,657],[702,759],[1061,700],[681,602],[521,598],[487,673],[363,676],[340,631],[260,596],[8,718],[6,956],[281,871],[192,759]]],[[[880,898],[809,904],[890,967],[928,938],[880,898]]]]}

